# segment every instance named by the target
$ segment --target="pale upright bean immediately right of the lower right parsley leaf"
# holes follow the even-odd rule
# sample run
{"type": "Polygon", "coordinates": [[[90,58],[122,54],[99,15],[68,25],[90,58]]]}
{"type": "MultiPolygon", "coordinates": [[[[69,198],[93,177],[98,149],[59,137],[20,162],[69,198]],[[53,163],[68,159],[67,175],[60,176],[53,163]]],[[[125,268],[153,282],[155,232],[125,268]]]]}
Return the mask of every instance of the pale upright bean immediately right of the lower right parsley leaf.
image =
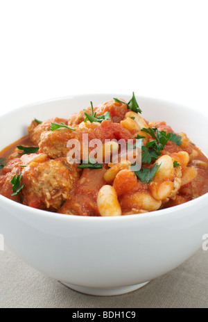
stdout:
{"type": "Polygon", "coordinates": [[[173,179],[173,160],[171,159],[171,156],[160,156],[155,163],[160,164],[161,166],[156,172],[156,175],[153,179],[154,182],[173,179]]]}

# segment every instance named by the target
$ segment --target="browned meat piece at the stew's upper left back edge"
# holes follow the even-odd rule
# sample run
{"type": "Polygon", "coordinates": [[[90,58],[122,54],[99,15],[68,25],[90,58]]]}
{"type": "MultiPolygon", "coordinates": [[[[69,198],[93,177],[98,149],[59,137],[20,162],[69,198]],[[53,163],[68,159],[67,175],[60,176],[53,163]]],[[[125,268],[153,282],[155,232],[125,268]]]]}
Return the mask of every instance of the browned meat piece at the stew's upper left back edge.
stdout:
{"type": "Polygon", "coordinates": [[[40,136],[42,132],[48,131],[51,128],[51,123],[60,123],[63,122],[64,124],[68,123],[68,120],[64,118],[51,118],[42,122],[41,124],[37,123],[35,120],[31,122],[28,126],[28,134],[30,136],[31,142],[33,145],[37,146],[40,142],[40,136]]]}

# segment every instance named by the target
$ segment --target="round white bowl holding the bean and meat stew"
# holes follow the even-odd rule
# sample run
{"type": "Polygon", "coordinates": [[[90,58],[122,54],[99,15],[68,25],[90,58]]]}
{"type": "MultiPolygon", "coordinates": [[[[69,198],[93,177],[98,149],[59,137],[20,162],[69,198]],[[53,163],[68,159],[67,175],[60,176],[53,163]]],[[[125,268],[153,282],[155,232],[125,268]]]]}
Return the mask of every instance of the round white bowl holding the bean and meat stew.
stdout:
{"type": "MultiPolygon", "coordinates": [[[[82,95],[40,102],[1,116],[0,150],[27,134],[37,118],[68,118],[112,97],[82,95]]],[[[207,117],[187,107],[145,97],[137,102],[147,120],[165,120],[208,154],[207,117]]],[[[0,234],[6,245],[38,271],[93,295],[116,295],[182,264],[208,233],[208,194],[176,207],[121,217],[84,217],[26,207],[0,195],[0,234]]]]}

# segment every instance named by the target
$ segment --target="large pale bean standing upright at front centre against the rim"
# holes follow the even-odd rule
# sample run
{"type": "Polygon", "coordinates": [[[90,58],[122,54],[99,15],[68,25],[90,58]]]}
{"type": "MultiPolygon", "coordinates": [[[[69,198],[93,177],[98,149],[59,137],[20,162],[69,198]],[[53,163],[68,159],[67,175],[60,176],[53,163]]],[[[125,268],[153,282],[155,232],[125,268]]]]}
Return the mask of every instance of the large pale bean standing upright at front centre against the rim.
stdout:
{"type": "Polygon", "coordinates": [[[121,206],[112,186],[105,185],[99,190],[97,207],[101,216],[121,216],[121,206]]]}

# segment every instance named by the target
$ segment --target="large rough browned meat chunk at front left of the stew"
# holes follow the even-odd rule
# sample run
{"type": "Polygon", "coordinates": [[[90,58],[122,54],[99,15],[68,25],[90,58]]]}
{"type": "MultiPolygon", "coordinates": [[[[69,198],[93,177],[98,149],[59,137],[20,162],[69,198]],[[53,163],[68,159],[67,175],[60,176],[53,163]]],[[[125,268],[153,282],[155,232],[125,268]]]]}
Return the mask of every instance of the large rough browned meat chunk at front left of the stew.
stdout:
{"type": "Polygon", "coordinates": [[[24,204],[39,209],[58,209],[69,198],[76,172],[59,160],[31,162],[22,170],[24,204]]]}

